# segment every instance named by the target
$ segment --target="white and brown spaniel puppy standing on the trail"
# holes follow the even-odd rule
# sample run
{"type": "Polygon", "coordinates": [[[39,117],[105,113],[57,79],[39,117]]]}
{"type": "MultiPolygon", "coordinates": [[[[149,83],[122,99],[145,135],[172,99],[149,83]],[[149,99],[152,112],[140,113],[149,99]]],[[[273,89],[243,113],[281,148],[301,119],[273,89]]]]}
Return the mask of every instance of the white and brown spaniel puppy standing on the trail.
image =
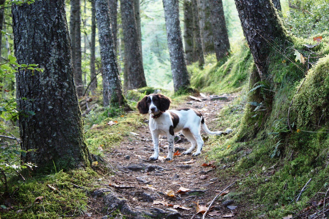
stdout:
{"type": "Polygon", "coordinates": [[[143,97],[137,108],[141,114],[150,114],[149,128],[152,134],[154,153],[149,160],[157,160],[159,157],[159,135],[166,135],[168,138],[168,155],[165,160],[172,160],[174,150],[174,134],[181,131],[191,142],[191,147],[183,154],[191,154],[197,146],[196,152],[192,156],[201,154],[203,139],[201,137],[201,125],[203,130],[210,135],[229,134],[232,129],[227,129],[224,133],[212,132],[205,124],[201,113],[195,109],[183,108],[168,110],[171,100],[162,94],[150,94],[143,97]]]}

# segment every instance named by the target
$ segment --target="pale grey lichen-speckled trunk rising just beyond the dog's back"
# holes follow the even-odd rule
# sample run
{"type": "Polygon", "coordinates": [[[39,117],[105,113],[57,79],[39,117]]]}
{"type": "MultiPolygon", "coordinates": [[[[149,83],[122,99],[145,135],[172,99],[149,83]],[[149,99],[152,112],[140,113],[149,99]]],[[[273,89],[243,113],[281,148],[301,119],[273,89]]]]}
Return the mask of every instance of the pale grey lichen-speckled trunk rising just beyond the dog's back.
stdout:
{"type": "Polygon", "coordinates": [[[182,32],[179,25],[178,3],[176,0],[163,0],[162,2],[174,91],[177,92],[190,86],[184,59],[182,32]]]}

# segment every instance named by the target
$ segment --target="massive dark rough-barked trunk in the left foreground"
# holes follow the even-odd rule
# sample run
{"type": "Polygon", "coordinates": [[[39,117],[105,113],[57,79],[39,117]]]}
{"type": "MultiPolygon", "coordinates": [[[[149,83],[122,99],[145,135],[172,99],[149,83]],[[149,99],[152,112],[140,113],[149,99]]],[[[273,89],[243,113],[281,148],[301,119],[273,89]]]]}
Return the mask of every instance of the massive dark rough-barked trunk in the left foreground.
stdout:
{"type": "Polygon", "coordinates": [[[21,147],[35,149],[23,158],[38,172],[87,167],[89,152],[79,109],[65,17],[65,1],[36,1],[13,7],[18,63],[35,63],[44,72],[16,74],[21,147]]]}

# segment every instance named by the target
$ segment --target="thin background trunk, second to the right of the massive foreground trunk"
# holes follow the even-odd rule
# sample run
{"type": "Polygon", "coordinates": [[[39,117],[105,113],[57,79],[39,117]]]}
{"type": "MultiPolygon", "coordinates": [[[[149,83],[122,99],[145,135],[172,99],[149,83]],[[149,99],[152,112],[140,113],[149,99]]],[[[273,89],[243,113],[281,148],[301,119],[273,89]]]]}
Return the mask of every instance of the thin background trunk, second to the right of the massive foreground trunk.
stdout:
{"type": "Polygon", "coordinates": [[[96,11],[95,0],[91,0],[91,39],[90,39],[90,91],[95,94],[97,87],[96,67],[95,67],[95,44],[96,44],[96,11]]]}

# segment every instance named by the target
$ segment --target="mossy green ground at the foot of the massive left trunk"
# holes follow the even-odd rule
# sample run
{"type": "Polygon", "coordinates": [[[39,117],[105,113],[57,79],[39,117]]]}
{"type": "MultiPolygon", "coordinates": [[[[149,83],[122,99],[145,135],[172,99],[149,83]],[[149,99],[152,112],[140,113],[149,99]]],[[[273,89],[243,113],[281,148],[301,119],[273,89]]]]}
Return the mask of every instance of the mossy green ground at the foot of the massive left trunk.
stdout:
{"type": "Polygon", "coordinates": [[[7,203],[7,206],[1,206],[1,218],[58,219],[78,216],[89,210],[89,193],[94,190],[93,182],[97,178],[95,171],[86,169],[30,177],[24,182],[22,179],[11,179],[9,191],[0,197],[1,203],[7,203]]]}

